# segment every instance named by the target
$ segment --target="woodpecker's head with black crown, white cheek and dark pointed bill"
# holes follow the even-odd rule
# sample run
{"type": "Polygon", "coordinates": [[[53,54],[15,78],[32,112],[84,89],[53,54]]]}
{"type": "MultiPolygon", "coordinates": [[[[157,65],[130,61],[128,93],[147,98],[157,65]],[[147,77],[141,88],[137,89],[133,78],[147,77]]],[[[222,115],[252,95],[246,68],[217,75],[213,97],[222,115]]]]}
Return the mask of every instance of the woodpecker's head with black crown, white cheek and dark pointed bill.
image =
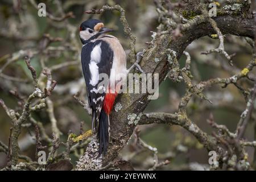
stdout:
{"type": "Polygon", "coordinates": [[[98,19],[88,19],[82,22],[79,30],[79,36],[83,44],[86,40],[97,38],[101,34],[113,31],[110,28],[104,27],[104,24],[98,19]]]}

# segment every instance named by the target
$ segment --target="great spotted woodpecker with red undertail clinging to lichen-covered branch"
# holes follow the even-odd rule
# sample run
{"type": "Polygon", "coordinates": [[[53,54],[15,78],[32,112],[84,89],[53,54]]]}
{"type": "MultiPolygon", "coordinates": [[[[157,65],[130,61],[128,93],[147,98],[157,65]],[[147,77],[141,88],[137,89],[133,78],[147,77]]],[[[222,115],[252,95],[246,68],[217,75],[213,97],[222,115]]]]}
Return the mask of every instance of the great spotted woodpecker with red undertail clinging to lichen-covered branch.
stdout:
{"type": "Polygon", "coordinates": [[[97,132],[99,138],[100,155],[107,151],[110,137],[109,114],[122,85],[122,80],[129,72],[126,69],[126,54],[119,40],[106,34],[112,31],[104,27],[100,20],[88,19],[82,22],[79,32],[83,44],[82,71],[89,106],[92,108],[92,128],[94,132],[97,132]],[[109,77],[107,86],[99,86],[101,73],[105,73],[109,77]],[[114,87],[110,86],[110,83],[113,82],[114,87]]]}

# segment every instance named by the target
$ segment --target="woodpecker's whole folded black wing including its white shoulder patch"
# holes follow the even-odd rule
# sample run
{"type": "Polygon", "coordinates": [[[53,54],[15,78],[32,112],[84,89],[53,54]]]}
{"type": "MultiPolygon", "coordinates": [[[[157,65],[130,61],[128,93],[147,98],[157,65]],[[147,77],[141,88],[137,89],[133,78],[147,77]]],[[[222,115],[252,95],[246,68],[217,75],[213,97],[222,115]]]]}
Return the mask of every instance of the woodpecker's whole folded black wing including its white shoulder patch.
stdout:
{"type": "Polygon", "coordinates": [[[81,60],[89,106],[92,108],[93,118],[96,117],[97,122],[105,97],[105,92],[102,93],[100,90],[106,90],[106,88],[103,87],[98,88],[98,76],[100,73],[106,73],[110,76],[110,69],[113,63],[113,51],[109,48],[107,43],[102,40],[97,40],[94,43],[89,42],[82,47],[81,60]],[[88,52],[90,52],[90,54],[88,52]]]}

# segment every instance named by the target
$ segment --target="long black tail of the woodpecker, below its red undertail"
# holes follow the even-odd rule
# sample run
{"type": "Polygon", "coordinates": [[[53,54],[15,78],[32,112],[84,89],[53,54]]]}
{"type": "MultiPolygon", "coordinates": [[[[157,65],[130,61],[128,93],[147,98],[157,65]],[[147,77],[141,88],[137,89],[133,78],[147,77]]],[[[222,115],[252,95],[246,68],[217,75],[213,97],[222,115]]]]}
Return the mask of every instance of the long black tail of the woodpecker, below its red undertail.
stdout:
{"type": "Polygon", "coordinates": [[[105,113],[104,109],[101,110],[98,138],[100,140],[100,155],[106,154],[109,144],[109,115],[105,113]]]}

